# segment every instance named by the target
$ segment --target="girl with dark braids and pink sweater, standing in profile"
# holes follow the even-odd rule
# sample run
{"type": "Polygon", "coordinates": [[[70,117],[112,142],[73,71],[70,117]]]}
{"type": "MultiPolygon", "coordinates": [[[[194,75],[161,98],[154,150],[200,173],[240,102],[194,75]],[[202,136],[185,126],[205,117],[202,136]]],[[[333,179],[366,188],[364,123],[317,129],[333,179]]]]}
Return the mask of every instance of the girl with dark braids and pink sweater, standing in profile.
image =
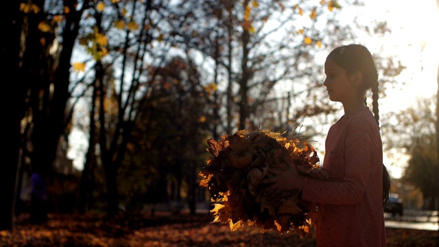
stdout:
{"type": "Polygon", "coordinates": [[[273,195],[300,189],[302,200],[320,204],[319,247],[385,246],[383,195],[388,193],[389,182],[378,125],[375,62],[366,47],[346,45],[327,56],[324,73],[329,99],[344,108],[344,116],[331,126],[325,142],[323,167],[330,179],[301,176],[289,164],[287,172],[270,170],[276,176],[264,183],[272,183],[267,191],[273,195]],[[373,115],[365,104],[368,89],[372,90],[373,115]]]}

